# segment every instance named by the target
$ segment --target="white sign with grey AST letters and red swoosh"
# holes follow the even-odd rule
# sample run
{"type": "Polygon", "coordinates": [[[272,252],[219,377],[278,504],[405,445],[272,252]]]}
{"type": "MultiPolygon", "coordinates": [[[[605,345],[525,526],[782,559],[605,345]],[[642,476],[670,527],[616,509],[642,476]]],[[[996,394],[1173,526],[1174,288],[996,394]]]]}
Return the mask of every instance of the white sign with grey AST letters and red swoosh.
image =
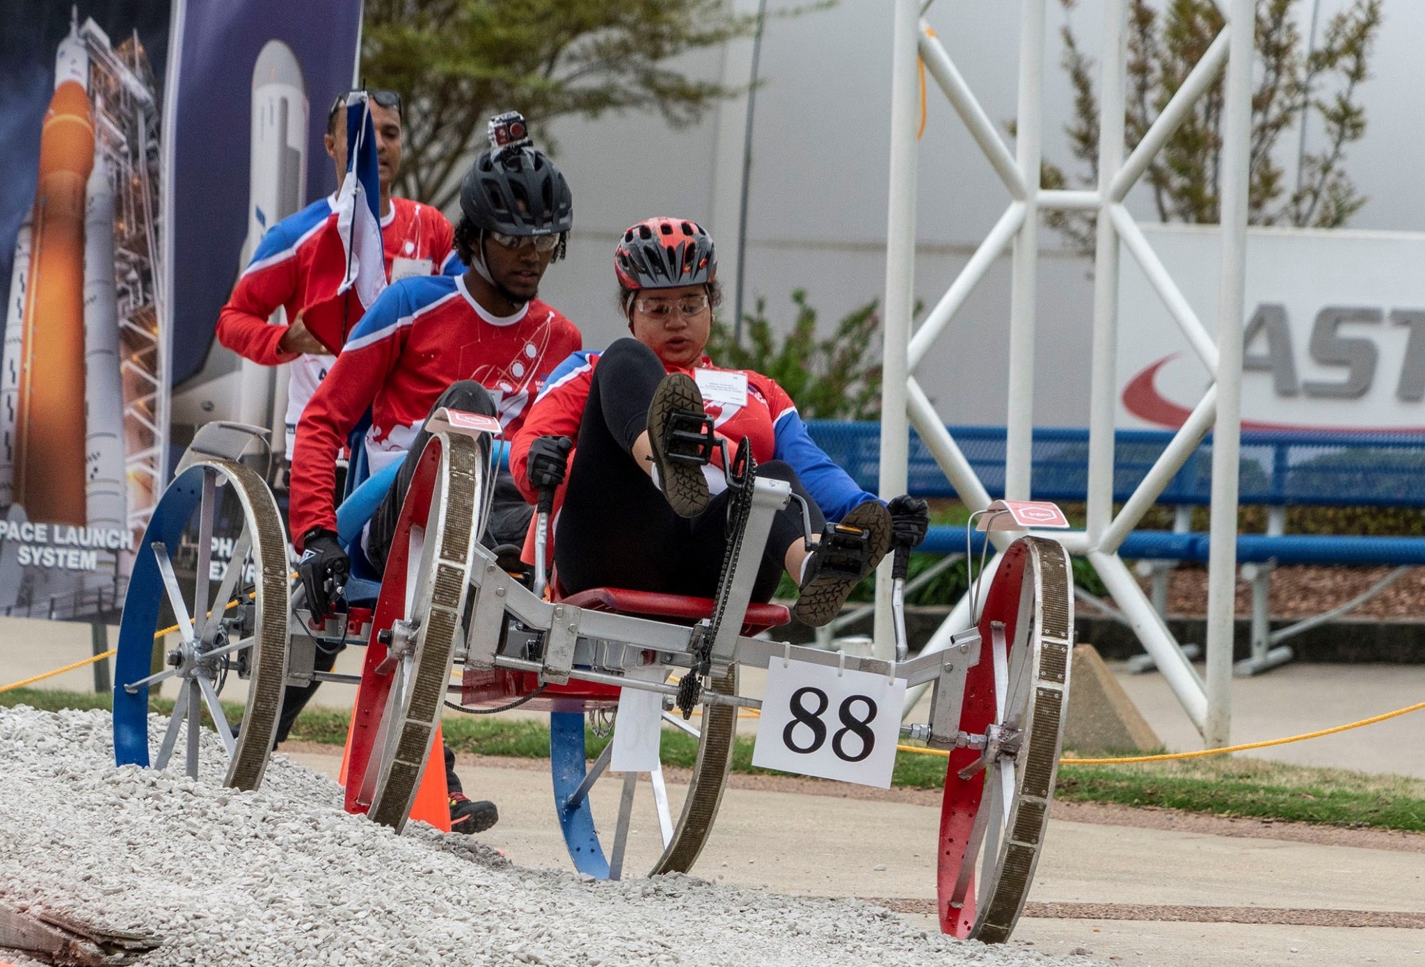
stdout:
{"type": "MultiPolygon", "coordinates": [[[[1144,232],[1213,332],[1216,229],[1144,232]]],[[[1248,232],[1243,429],[1425,433],[1422,263],[1425,235],[1248,232]]],[[[1181,426],[1210,373],[1126,251],[1121,278],[1119,426],[1181,426]]]]}

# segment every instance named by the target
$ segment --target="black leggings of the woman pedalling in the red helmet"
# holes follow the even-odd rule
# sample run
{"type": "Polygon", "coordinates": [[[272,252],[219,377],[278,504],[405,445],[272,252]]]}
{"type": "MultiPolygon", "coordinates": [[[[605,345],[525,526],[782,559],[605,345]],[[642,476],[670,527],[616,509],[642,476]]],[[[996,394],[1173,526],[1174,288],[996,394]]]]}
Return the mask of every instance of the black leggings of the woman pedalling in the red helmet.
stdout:
{"type": "MultiPolygon", "coordinates": [[[[564,594],[596,587],[697,597],[717,591],[731,493],[714,494],[697,517],[678,517],[633,457],[633,443],[648,424],[653,392],[665,373],[653,350],[636,339],[620,339],[598,357],[554,540],[564,594]]],[[[772,460],[758,464],[757,473],[789,483],[809,504],[812,533],[821,533],[826,521],[789,464],[772,460]]],[[[772,597],[787,548],[801,538],[801,508],[791,501],[772,518],[754,601],[772,597]]]]}

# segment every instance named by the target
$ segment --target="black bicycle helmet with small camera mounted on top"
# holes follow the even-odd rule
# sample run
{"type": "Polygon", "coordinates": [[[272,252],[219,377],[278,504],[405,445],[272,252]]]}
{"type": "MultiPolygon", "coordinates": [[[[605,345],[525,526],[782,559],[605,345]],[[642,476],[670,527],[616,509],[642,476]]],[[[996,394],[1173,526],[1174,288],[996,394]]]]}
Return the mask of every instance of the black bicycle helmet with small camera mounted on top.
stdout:
{"type": "Polygon", "coordinates": [[[526,137],[517,113],[490,120],[490,150],[460,182],[470,224],[504,235],[561,235],[574,225],[574,195],[564,175],[526,137]]]}

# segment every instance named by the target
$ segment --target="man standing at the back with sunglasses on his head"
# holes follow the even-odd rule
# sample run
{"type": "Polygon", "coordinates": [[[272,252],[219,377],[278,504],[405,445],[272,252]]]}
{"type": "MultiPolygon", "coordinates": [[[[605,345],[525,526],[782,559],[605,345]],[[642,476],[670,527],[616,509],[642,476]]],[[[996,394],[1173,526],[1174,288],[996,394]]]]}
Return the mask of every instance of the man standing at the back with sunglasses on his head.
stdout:
{"type": "MultiPolygon", "coordinates": [[[[333,357],[304,325],[312,306],[331,302],[346,272],[346,251],[336,228],[336,195],[346,177],[345,91],[326,113],[326,154],[336,165],[336,192],[312,202],[268,229],[218,315],[218,342],[262,366],[292,363],[286,400],[286,457],[292,459],[296,422],[331,370],[333,357]],[[278,308],[285,325],[275,323],[278,308]]],[[[380,181],[380,238],[390,282],[415,275],[459,272],[450,222],[430,205],[392,198],[400,174],[400,97],[395,91],[366,91],[376,132],[380,181]]],[[[348,325],[361,319],[355,289],[341,306],[348,325]]],[[[285,735],[285,733],[284,733],[285,735]]]]}

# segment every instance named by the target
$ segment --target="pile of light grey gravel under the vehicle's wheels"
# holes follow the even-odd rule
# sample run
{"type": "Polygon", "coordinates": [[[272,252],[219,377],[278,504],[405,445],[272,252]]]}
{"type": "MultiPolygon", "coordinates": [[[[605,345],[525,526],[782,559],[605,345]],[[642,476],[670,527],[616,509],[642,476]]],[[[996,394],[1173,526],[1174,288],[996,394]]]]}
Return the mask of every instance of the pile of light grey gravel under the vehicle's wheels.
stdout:
{"type": "Polygon", "coordinates": [[[855,900],[522,869],[466,836],[349,816],[339,786],[282,756],[259,792],[224,789],[211,751],[197,782],[115,769],[105,712],[0,709],[0,901],[158,934],[138,961],[154,966],[1093,963],[855,900]]]}

